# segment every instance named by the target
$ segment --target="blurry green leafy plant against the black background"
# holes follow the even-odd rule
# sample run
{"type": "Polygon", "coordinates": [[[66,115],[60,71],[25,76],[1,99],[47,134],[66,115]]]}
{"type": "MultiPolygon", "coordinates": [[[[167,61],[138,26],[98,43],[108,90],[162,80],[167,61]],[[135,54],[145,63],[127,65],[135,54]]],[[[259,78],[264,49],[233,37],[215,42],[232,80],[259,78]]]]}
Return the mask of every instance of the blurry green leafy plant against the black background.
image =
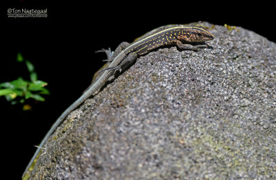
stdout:
{"type": "MultiPolygon", "coordinates": [[[[43,94],[50,94],[49,90],[44,88],[48,83],[37,79],[37,72],[34,71],[34,65],[23,59],[21,53],[17,54],[17,61],[26,63],[28,72],[30,74],[30,81],[19,77],[14,81],[0,83],[0,96],[5,96],[7,101],[12,105],[16,103],[25,103],[26,99],[35,99],[37,101],[45,101],[41,96],[43,94]]],[[[23,110],[30,109],[30,106],[23,106],[23,110]]]]}

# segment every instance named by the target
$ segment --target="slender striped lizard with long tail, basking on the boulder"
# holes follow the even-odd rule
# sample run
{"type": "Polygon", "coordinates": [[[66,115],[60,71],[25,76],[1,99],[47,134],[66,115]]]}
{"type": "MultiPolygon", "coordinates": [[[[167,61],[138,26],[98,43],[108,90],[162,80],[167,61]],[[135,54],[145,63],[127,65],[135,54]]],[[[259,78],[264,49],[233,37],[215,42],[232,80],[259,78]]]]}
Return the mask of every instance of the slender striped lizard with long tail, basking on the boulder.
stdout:
{"type": "MultiPolygon", "coordinates": [[[[156,30],[152,30],[148,32],[146,35],[140,37],[136,41],[132,43],[122,42],[116,50],[110,52],[110,50],[102,50],[106,52],[108,55],[109,66],[108,68],[104,68],[100,70],[99,73],[102,73],[101,76],[92,83],[92,86],[84,92],[77,101],[72,103],[55,121],[50,130],[47,132],[46,136],[43,138],[41,143],[39,144],[39,148],[37,148],[34,156],[28,163],[26,170],[23,172],[22,178],[25,176],[26,172],[28,172],[32,163],[34,163],[34,159],[37,158],[39,152],[45,145],[46,141],[49,137],[55,132],[57,127],[66,119],[68,114],[75,110],[78,106],[83,103],[86,99],[95,95],[108,81],[108,79],[115,74],[117,70],[121,72],[134,62],[137,57],[147,54],[152,50],[156,50],[157,48],[166,47],[166,46],[177,46],[180,50],[199,50],[200,48],[209,48],[209,46],[205,43],[205,41],[213,40],[215,37],[213,34],[208,32],[205,28],[201,26],[180,26],[180,25],[172,25],[172,26],[163,26],[161,28],[157,28],[156,30]]],[[[101,50],[100,50],[101,51],[101,50]]]]}

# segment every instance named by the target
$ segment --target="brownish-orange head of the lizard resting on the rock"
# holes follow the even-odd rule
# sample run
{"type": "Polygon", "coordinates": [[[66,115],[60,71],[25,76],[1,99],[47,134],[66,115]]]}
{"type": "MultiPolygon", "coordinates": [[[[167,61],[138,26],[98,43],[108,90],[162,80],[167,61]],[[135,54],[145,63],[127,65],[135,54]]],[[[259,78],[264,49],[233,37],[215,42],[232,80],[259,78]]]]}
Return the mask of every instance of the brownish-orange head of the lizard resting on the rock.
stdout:
{"type": "Polygon", "coordinates": [[[177,39],[188,43],[204,42],[214,39],[214,35],[202,27],[190,27],[183,34],[180,34],[177,39]]]}

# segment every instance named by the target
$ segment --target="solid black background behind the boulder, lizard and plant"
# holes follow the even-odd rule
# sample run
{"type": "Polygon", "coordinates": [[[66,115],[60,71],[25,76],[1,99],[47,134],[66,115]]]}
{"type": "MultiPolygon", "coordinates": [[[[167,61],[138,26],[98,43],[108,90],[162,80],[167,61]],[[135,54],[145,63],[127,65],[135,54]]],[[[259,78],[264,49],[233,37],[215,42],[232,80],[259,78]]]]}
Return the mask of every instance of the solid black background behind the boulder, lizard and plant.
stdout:
{"type": "MultiPolygon", "coordinates": [[[[106,59],[96,50],[136,37],[166,24],[208,21],[223,26],[242,26],[270,41],[275,36],[275,1],[6,1],[1,6],[0,83],[19,76],[28,79],[21,52],[48,82],[50,96],[33,103],[31,111],[11,106],[0,97],[4,170],[19,179],[36,148],[57,117],[81,96],[92,75],[106,59]],[[48,9],[47,18],[7,17],[8,8],[48,9]]],[[[222,41],[222,40],[221,40],[222,41]]]]}

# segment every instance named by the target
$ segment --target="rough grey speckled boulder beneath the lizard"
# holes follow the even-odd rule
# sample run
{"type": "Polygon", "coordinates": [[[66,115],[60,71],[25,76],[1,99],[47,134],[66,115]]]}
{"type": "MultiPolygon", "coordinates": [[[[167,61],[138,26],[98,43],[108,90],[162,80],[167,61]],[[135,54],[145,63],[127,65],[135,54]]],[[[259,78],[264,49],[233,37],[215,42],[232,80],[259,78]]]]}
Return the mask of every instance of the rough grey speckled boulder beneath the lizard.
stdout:
{"type": "Polygon", "coordinates": [[[32,179],[276,179],[276,44],[210,32],[213,49],[150,52],[72,112],[32,179]]]}

